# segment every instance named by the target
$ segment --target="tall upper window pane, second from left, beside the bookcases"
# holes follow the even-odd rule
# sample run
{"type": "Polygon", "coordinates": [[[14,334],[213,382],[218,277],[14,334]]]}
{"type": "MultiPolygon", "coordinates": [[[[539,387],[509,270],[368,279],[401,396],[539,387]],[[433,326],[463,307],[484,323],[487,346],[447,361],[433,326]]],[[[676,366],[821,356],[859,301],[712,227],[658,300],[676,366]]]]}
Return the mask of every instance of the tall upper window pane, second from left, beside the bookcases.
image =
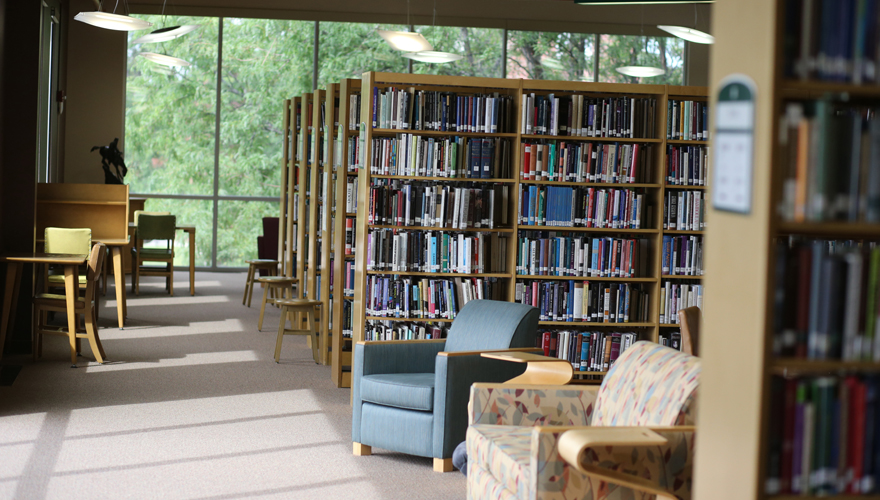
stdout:
{"type": "Polygon", "coordinates": [[[279,196],[281,105],[312,88],[315,23],[223,20],[220,195],[279,196]]]}

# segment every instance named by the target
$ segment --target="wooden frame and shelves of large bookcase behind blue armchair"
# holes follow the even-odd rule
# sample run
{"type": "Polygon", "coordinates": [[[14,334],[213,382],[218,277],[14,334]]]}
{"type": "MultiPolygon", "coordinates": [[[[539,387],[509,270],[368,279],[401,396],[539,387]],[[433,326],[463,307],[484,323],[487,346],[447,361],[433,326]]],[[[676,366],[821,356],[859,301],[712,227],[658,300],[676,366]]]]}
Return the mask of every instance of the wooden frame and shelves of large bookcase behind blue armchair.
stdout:
{"type": "MultiPolygon", "coordinates": [[[[427,318],[387,318],[379,316],[369,316],[366,314],[365,300],[369,296],[366,290],[366,281],[371,276],[406,276],[415,279],[423,277],[435,277],[437,279],[453,278],[453,277],[491,277],[497,279],[504,287],[504,295],[507,300],[513,301],[516,298],[516,283],[522,280],[539,280],[539,281],[595,281],[595,282],[620,282],[640,284],[642,290],[648,294],[648,315],[647,321],[632,323],[587,323],[587,322],[558,322],[558,321],[542,321],[542,327],[554,327],[554,329],[576,329],[579,331],[621,331],[625,332],[629,329],[636,332],[639,338],[644,340],[658,341],[661,328],[678,327],[678,325],[660,324],[660,290],[662,283],[666,280],[674,280],[675,283],[700,284],[701,276],[678,276],[665,275],[661,272],[661,251],[664,235],[690,235],[701,236],[704,231],[665,231],[663,227],[663,203],[666,190],[692,190],[705,191],[706,186],[674,186],[667,185],[666,182],[666,146],[667,144],[675,145],[692,145],[706,146],[708,141],[682,141],[667,140],[666,138],[666,106],[668,99],[674,98],[679,100],[695,100],[707,101],[708,91],[702,87],[673,87],[666,85],[626,85],[626,84],[606,84],[606,83],[582,83],[582,82],[554,82],[554,81],[529,81],[529,80],[501,80],[488,78],[467,78],[467,77],[436,77],[427,75],[402,75],[388,73],[366,73],[361,80],[363,86],[363,96],[361,100],[361,122],[365,124],[362,133],[358,131],[346,129],[341,135],[345,139],[349,136],[359,135],[362,158],[364,164],[358,169],[358,211],[356,224],[356,248],[358,249],[355,260],[355,294],[353,303],[353,332],[355,341],[363,340],[361,335],[365,331],[365,326],[369,321],[388,321],[393,322],[412,322],[412,323],[446,323],[448,319],[427,319],[427,318]],[[418,90],[440,90],[457,92],[462,94],[474,93],[490,93],[499,92],[509,95],[513,98],[515,107],[515,127],[513,132],[503,131],[498,133],[474,133],[474,132],[437,132],[425,130],[397,130],[388,128],[372,127],[372,110],[374,98],[373,89],[386,90],[391,87],[398,89],[413,88],[418,90]],[[654,115],[655,134],[651,137],[643,138],[615,138],[615,137],[573,137],[565,135],[546,135],[546,134],[524,134],[520,127],[521,99],[523,94],[540,94],[555,96],[570,96],[572,94],[583,94],[587,97],[621,97],[629,96],[633,98],[648,97],[655,99],[656,113],[654,115]],[[449,178],[434,176],[403,176],[403,175],[381,175],[371,173],[370,159],[372,158],[372,145],[374,138],[396,137],[399,134],[406,133],[426,138],[443,138],[449,136],[465,137],[465,138],[505,138],[512,141],[511,150],[511,170],[512,178],[509,179],[482,179],[482,178],[449,178]],[[653,148],[650,157],[650,172],[646,175],[646,181],[626,184],[626,183],[601,183],[601,182],[563,182],[549,180],[524,180],[520,175],[521,164],[521,144],[524,141],[542,141],[549,143],[552,141],[566,143],[619,143],[624,144],[645,144],[653,148]],[[423,181],[436,183],[438,185],[446,185],[449,183],[497,183],[509,186],[511,189],[509,207],[509,217],[511,224],[504,228],[470,228],[467,230],[458,230],[452,228],[441,227],[420,227],[420,226],[400,226],[386,224],[368,224],[367,214],[369,210],[369,193],[370,186],[374,182],[385,180],[406,180],[406,181],[423,181]],[[563,187],[594,187],[597,189],[635,189],[643,193],[645,202],[651,206],[652,216],[645,220],[643,226],[639,229],[617,229],[617,228],[584,228],[584,227],[556,227],[556,226],[530,226],[520,225],[517,214],[519,213],[519,191],[521,185],[539,185],[539,186],[563,186],[563,187]],[[508,238],[509,246],[507,248],[508,262],[506,262],[507,271],[501,273],[428,273],[428,272],[399,272],[399,271],[367,271],[366,242],[367,235],[371,231],[377,230],[406,230],[406,231],[443,231],[452,233],[500,233],[515,237],[508,238]],[[516,252],[518,250],[517,237],[521,231],[554,231],[568,232],[571,234],[583,235],[601,235],[601,236],[620,236],[620,237],[637,237],[647,239],[647,248],[649,255],[647,256],[648,274],[636,278],[598,278],[598,277],[573,277],[573,276],[531,276],[516,274],[516,252]],[[689,281],[688,281],[689,280],[689,281]]],[[[344,83],[343,83],[344,88],[344,83]]],[[[344,94],[341,91],[340,94],[344,94]]],[[[343,101],[343,100],[341,100],[343,101]]],[[[340,107],[345,108],[347,102],[340,102],[340,107]]],[[[347,157],[348,141],[343,144],[344,155],[347,157]]],[[[340,176],[342,177],[342,176],[340,176]]],[[[346,175],[347,177],[347,175],[346,175]]],[[[340,190],[344,186],[343,181],[337,180],[337,189],[340,190]]],[[[337,234],[344,234],[344,225],[340,225],[340,221],[334,226],[337,234]]],[[[335,248],[340,248],[337,244],[335,248]]],[[[338,250],[337,250],[338,251],[338,250]]],[[[348,257],[346,257],[347,259],[348,257]]],[[[337,263],[337,276],[342,276],[344,272],[344,259],[339,259],[337,263]]],[[[340,300],[344,300],[340,298],[340,300]]],[[[338,302],[337,302],[338,304],[338,302]]],[[[341,308],[340,308],[341,309],[341,308]]],[[[338,311],[341,314],[341,310],[338,311]]],[[[336,312],[334,312],[336,314],[336,312]]],[[[334,318],[337,316],[334,316],[334,318]]],[[[595,376],[593,372],[577,373],[577,376],[595,376]]]]}

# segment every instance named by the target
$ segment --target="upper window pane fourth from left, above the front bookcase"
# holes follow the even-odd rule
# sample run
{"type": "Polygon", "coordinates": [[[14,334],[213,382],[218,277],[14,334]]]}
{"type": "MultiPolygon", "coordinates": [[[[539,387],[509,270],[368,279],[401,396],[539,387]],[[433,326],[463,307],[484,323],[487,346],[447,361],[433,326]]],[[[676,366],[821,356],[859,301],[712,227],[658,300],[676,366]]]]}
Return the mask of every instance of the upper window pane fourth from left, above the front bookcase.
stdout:
{"type": "Polygon", "coordinates": [[[464,56],[451,63],[429,64],[413,61],[413,73],[426,75],[482,76],[501,78],[502,30],[416,26],[434,50],[464,56]]]}

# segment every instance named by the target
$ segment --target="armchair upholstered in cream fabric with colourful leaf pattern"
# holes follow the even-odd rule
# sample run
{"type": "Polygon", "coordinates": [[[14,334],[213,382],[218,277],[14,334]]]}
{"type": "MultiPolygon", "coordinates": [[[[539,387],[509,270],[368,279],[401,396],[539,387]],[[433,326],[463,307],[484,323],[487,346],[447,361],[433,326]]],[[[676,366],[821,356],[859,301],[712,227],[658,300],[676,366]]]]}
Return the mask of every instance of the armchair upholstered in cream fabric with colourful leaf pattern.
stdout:
{"type": "Polygon", "coordinates": [[[690,499],[699,373],[637,342],[598,390],[475,384],[468,498],[690,499]]]}

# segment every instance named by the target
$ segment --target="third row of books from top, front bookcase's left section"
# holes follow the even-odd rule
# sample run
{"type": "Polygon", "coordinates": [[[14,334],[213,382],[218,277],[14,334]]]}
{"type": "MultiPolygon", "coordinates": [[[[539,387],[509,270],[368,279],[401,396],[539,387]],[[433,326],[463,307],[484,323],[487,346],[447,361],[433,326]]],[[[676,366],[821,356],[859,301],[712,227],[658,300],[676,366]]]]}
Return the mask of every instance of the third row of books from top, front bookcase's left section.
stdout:
{"type": "Polygon", "coordinates": [[[454,186],[377,180],[370,188],[367,223],[450,229],[509,226],[510,186],[454,186]]]}

